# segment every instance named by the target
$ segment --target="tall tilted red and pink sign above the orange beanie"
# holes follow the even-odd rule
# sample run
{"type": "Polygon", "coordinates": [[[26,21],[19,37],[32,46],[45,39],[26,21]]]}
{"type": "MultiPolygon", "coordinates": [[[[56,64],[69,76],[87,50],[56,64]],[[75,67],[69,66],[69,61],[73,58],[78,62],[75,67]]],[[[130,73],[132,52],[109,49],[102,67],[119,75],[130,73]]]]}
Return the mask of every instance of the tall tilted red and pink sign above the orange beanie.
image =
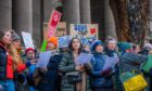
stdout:
{"type": "Polygon", "coordinates": [[[61,18],[61,13],[53,10],[51,18],[48,24],[48,37],[54,36],[60,18],[61,18]]]}

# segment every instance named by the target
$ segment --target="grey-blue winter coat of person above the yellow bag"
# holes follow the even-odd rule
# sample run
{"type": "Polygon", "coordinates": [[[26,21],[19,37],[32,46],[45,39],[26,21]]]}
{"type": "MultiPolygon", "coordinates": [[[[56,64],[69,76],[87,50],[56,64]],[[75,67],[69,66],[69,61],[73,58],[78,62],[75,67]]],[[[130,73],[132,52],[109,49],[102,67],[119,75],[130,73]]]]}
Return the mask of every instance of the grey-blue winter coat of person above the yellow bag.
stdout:
{"type": "Polygon", "coordinates": [[[121,55],[121,70],[122,72],[139,72],[140,65],[148,60],[145,54],[137,54],[131,52],[125,52],[121,55]]]}

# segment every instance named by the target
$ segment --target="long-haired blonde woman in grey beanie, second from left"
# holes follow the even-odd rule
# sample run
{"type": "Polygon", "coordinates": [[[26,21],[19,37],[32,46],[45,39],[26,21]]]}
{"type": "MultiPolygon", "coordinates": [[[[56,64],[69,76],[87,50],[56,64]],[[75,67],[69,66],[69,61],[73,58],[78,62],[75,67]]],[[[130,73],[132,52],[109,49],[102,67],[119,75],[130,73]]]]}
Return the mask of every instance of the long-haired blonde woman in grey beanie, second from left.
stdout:
{"type": "Polygon", "coordinates": [[[14,70],[14,82],[15,82],[15,88],[16,91],[25,91],[26,90],[26,74],[25,74],[25,69],[27,67],[29,67],[31,64],[35,64],[37,61],[36,60],[31,60],[28,62],[23,61],[22,56],[21,56],[21,52],[22,52],[22,48],[21,48],[21,38],[20,36],[13,31],[12,32],[12,43],[9,47],[11,56],[13,57],[13,67],[15,68],[14,70]],[[27,64],[27,65],[25,65],[27,64]]]}

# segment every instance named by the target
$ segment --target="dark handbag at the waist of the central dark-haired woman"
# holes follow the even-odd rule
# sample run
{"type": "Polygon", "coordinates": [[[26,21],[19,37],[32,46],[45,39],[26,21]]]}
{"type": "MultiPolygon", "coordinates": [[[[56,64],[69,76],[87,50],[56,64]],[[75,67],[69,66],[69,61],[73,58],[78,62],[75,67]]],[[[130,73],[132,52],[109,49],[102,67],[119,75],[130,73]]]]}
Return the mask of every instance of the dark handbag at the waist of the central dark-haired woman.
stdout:
{"type": "Polygon", "coordinates": [[[66,74],[68,83],[76,83],[83,80],[81,74],[79,72],[71,72],[66,74]]]}

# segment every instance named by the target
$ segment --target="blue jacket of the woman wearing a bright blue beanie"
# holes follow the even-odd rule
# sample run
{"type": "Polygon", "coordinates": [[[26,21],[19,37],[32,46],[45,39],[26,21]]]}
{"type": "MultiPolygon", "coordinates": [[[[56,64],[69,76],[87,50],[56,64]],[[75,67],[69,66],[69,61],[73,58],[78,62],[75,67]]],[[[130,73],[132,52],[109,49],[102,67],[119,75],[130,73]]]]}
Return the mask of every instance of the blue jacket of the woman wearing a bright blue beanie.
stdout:
{"type": "Polygon", "coordinates": [[[94,53],[91,61],[92,72],[91,72],[91,86],[92,87],[112,87],[111,77],[102,76],[103,66],[105,63],[105,55],[102,53],[94,53]]]}

